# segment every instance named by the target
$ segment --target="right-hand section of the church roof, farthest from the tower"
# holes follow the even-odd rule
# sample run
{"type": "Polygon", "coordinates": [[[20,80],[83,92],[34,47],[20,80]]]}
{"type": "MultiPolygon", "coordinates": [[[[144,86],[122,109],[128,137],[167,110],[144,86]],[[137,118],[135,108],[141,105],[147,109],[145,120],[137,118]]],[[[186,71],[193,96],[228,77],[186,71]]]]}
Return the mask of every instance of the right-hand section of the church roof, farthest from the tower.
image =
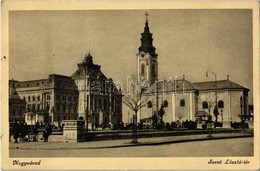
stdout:
{"type": "Polygon", "coordinates": [[[217,81],[217,87],[215,81],[208,81],[208,82],[196,82],[193,83],[194,87],[198,90],[215,90],[216,88],[218,90],[221,89],[245,89],[248,90],[247,88],[234,83],[233,81],[230,80],[219,80],[217,81]]]}

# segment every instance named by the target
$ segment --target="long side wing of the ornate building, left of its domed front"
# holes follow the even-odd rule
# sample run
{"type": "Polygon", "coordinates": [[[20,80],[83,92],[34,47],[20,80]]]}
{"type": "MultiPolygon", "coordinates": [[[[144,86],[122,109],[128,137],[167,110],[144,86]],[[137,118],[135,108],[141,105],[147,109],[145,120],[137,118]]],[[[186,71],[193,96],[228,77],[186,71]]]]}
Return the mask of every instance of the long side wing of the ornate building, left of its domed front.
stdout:
{"type": "Polygon", "coordinates": [[[27,124],[77,119],[78,91],[70,77],[52,74],[48,79],[16,82],[20,98],[26,102],[27,124]]]}

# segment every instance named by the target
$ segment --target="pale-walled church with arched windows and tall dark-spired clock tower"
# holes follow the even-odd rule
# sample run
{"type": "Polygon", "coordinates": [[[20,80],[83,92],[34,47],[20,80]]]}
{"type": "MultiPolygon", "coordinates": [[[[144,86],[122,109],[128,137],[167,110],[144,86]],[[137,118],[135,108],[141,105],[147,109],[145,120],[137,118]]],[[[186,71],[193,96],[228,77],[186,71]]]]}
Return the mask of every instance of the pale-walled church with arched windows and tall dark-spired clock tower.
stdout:
{"type": "MultiPolygon", "coordinates": [[[[153,46],[153,37],[150,32],[148,18],[144,31],[141,33],[141,46],[137,54],[137,77],[141,84],[149,83],[148,91],[142,94],[143,99],[148,99],[137,116],[138,122],[145,122],[156,115],[159,119],[161,107],[164,109],[163,122],[206,120],[209,115],[212,120],[221,123],[240,122],[248,117],[248,92],[243,87],[229,79],[217,80],[217,75],[212,71],[215,80],[208,82],[190,82],[185,79],[158,78],[158,58],[156,48],[153,46]]],[[[174,75],[174,73],[170,73],[174,75]]],[[[129,120],[128,120],[129,121],[129,120]]],[[[228,125],[228,124],[227,124],[228,125]]]]}

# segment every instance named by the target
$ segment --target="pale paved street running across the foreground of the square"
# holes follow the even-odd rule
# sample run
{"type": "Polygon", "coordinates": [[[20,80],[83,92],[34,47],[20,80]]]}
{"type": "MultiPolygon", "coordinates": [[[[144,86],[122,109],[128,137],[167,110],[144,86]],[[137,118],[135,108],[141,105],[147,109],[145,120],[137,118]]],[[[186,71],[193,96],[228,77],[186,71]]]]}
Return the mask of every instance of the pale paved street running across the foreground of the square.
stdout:
{"type": "MultiPolygon", "coordinates": [[[[149,141],[159,141],[160,139],[165,141],[166,139],[169,140],[170,137],[149,138],[149,141]]],[[[142,141],[144,139],[140,139],[140,142],[142,141]]],[[[10,157],[218,157],[253,155],[252,137],[176,142],[161,145],[127,146],[127,143],[129,144],[129,140],[83,143],[10,143],[10,157]],[[100,144],[100,146],[97,144],[100,144]],[[117,144],[123,144],[123,146],[120,147],[117,144]]]]}

